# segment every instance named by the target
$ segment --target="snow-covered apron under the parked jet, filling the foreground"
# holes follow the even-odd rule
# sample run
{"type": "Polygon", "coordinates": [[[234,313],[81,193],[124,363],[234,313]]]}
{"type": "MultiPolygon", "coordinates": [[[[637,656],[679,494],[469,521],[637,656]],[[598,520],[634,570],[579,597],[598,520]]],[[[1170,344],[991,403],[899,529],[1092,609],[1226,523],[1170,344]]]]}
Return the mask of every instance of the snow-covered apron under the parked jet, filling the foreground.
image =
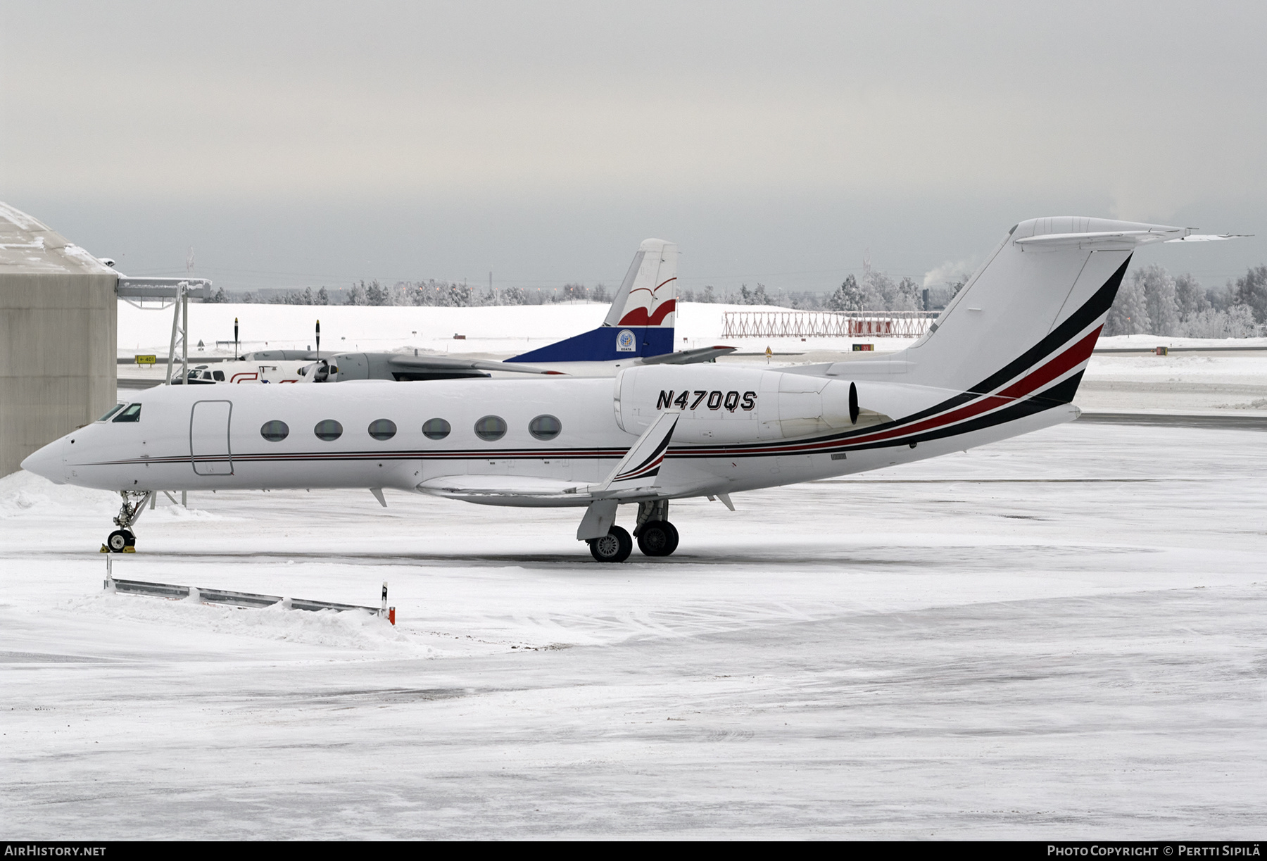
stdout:
{"type": "MultiPolygon", "coordinates": [[[[674,503],[599,566],[578,511],[193,495],[104,595],[105,493],[0,479],[14,839],[1256,838],[1267,434],[1066,425],[674,503]]],[[[630,522],[630,512],[622,521],[630,522]]]]}

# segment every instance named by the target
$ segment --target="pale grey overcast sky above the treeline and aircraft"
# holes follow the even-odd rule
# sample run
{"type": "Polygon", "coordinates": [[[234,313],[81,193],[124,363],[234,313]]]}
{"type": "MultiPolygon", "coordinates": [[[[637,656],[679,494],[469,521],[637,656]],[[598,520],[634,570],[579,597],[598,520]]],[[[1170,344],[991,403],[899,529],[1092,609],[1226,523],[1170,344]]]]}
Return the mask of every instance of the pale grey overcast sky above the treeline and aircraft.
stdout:
{"type": "Polygon", "coordinates": [[[829,289],[1016,221],[1257,233],[1267,4],[0,4],[0,199],[129,274],[829,289]]]}

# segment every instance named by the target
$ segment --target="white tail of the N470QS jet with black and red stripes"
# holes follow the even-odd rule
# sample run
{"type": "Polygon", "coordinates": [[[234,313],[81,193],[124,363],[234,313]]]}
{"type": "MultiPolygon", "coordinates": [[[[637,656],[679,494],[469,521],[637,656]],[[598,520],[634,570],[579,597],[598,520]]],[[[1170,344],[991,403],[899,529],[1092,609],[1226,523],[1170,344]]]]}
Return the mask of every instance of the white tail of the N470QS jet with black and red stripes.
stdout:
{"type": "Polygon", "coordinates": [[[892,359],[846,363],[849,373],[1068,403],[1135,247],[1186,232],[1105,218],[1021,222],[927,335],[892,359]]]}

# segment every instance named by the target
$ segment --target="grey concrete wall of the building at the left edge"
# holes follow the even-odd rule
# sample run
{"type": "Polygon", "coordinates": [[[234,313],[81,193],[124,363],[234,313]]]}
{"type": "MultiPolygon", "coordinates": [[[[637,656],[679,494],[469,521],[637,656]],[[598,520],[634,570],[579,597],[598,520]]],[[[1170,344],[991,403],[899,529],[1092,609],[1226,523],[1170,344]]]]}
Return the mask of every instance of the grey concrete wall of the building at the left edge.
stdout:
{"type": "Polygon", "coordinates": [[[0,476],[115,402],[117,280],[0,271],[0,476]]]}

